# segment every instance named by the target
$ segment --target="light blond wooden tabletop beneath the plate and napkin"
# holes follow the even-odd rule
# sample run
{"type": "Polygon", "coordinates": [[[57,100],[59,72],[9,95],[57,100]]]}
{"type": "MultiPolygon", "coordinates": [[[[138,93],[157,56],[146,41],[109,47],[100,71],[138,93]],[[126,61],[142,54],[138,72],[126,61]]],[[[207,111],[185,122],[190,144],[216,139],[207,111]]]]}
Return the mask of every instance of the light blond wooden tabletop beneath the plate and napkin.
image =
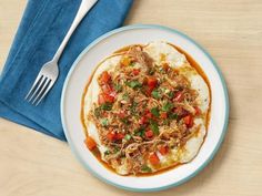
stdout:
{"type": "MultiPolygon", "coordinates": [[[[0,1],[1,65],[26,2],[0,1]]],[[[230,93],[228,134],[212,163],[190,182],[152,195],[262,195],[262,1],[137,0],[131,23],[168,25],[196,40],[216,60],[230,93]]],[[[0,120],[0,195],[137,194],[91,176],[67,143],[0,120]]]]}

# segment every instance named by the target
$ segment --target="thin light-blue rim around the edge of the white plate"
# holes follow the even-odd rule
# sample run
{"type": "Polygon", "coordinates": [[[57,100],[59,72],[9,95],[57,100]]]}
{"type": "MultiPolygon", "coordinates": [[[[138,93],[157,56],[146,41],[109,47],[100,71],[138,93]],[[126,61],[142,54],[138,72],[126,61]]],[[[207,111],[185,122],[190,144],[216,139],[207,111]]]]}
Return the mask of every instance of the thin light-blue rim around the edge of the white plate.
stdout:
{"type": "Polygon", "coordinates": [[[66,137],[68,140],[68,143],[71,147],[71,151],[73,152],[74,156],[80,161],[80,163],[82,163],[82,165],[88,169],[90,171],[91,174],[93,174],[95,177],[98,177],[99,179],[101,179],[102,182],[107,183],[107,184],[110,184],[110,185],[113,185],[118,188],[122,188],[122,189],[125,189],[125,190],[131,190],[131,192],[159,192],[159,190],[163,190],[163,189],[168,189],[168,188],[171,188],[171,187],[175,187],[175,186],[179,186],[185,182],[188,182],[189,179],[191,179],[192,177],[194,177],[196,174],[199,174],[214,157],[214,155],[216,154],[218,149],[220,148],[222,142],[223,142],[223,138],[224,138],[224,135],[226,133],[226,130],[228,130],[228,124],[229,124],[229,111],[230,111],[230,105],[229,105],[229,94],[228,94],[228,89],[226,89],[226,84],[225,84],[225,81],[224,81],[224,78],[222,75],[222,72],[220,71],[218,64],[215,63],[215,61],[211,58],[211,55],[199,44],[196,43],[194,40],[192,40],[191,38],[189,38],[187,34],[175,30],[175,29],[171,29],[171,28],[168,28],[168,27],[163,27],[163,25],[159,25],[159,24],[133,24],[133,25],[125,25],[125,27],[122,27],[122,28],[119,28],[119,29],[115,29],[115,30],[112,30],[101,37],[99,37],[98,39],[95,39],[93,42],[91,42],[80,54],[79,56],[77,58],[77,60],[74,61],[73,65],[71,66],[68,75],[67,75],[67,79],[64,81],[64,84],[63,84],[63,89],[62,89],[62,96],[61,96],[61,103],[60,103],[60,107],[61,107],[61,120],[62,120],[62,126],[63,126],[63,130],[64,130],[64,134],[66,134],[66,137]],[[115,184],[113,182],[110,182],[108,179],[105,179],[103,176],[99,175],[95,171],[91,169],[89,167],[89,165],[81,158],[81,156],[77,153],[77,149],[74,148],[74,145],[72,143],[72,140],[67,131],[67,126],[66,126],[66,120],[64,120],[64,112],[63,112],[63,103],[64,103],[64,94],[66,94],[66,90],[67,90],[67,86],[68,86],[68,82],[69,82],[69,79],[72,74],[72,72],[74,71],[77,64],[79,63],[79,61],[82,59],[82,56],[92,48],[94,47],[97,43],[99,43],[100,41],[102,41],[103,39],[112,35],[112,34],[115,34],[115,33],[119,33],[119,32],[122,32],[122,31],[128,31],[128,30],[133,30],[133,29],[160,29],[160,30],[164,30],[164,31],[169,31],[169,32],[172,32],[174,34],[179,34],[181,37],[183,37],[184,39],[189,40],[190,42],[192,42],[194,45],[196,45],[208,58],[209,60],[212,62],[212,64],[214,65],[216,72],[219,73],[220,75],[220,81],[222,82],[222,86],[223,86],[223,92],[224,92],[224,100],[225,100],[225,115],[224,115],[224,125],[223,125],[223,132],[222,134],[220,135],[220,138],[219,138],[219,142],[214,148],[214,151],[212,152],[212,154],[210,155],[210,157],[196,169],[194,171],[193,174],[187,176],[185,178],[179,180],[179,182],[175,182],[175,183],[172,183],[170,185],[167,185],[167,186],[162,186],[162,187],[157,187],[157,188],[131,188],[131,187],[128,187],[128,186],[122,186],[122,185],[119,185],[119,184],[115,184]]]}

